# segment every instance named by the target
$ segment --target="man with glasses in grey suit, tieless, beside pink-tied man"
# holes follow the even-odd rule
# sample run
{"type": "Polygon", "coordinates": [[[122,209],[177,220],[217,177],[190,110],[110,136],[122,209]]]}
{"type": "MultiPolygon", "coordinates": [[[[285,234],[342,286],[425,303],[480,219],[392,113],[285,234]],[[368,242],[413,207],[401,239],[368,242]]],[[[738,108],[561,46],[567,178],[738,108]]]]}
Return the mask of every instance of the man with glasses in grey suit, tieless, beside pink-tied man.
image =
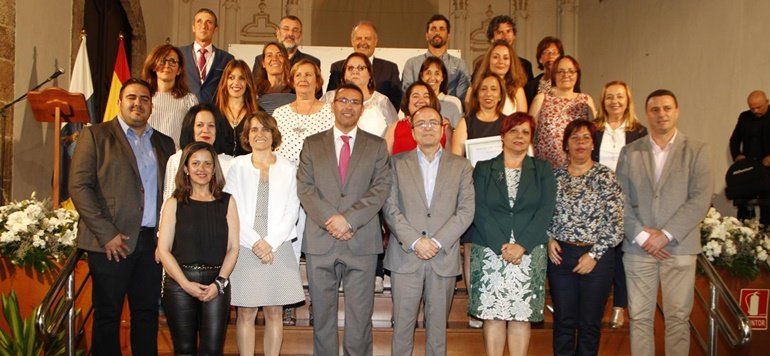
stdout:
{"type": "Polygon", "coordinates": [[[414,327],[425,302],[425,355],[446,355],[446,322],[460,275],[460,236],[473,222],[473,167],[441,148],[441,114],[412,115],[417,149],[391,160],[393,187],[383,212],[397,239],[385,268],[393,281],[393,355],[411,355],[414,327]]]}

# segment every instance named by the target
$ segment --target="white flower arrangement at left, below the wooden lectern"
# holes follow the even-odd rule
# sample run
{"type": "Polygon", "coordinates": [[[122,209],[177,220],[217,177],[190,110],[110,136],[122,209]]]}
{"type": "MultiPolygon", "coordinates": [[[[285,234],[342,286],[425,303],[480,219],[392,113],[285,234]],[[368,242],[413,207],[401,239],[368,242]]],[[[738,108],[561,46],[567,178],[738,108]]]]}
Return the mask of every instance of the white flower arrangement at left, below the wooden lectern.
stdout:
{"type": "Polygon", "coordinates": [[[78,213],[51,210],[47,200],[29,199],[0,207],[0,256],[40,272],[55,266],[75,248],[78,213]]]}

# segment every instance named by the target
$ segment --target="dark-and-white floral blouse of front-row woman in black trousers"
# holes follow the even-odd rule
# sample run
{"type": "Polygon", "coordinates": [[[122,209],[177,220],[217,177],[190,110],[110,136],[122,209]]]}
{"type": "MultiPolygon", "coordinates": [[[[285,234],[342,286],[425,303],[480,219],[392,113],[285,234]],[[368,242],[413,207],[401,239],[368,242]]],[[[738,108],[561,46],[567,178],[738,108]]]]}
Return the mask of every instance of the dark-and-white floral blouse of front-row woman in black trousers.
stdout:
{"type": "Polygon", "coordinates": [[[623,240],[623,194],[615,173],[604,165],[572,176],[567,166],[554,170],[556,212],[548,237],[557,241],[593,244],[600,259],[623,240]]]}

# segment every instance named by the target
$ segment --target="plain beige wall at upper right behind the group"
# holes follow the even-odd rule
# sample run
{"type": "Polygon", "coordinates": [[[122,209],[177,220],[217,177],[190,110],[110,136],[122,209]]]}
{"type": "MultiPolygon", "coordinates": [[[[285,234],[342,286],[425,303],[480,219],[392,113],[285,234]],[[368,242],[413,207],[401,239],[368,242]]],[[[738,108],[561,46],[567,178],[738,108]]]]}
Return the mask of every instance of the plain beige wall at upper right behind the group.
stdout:
{"type": "Polygon", "coordinates": [[[579,12],[584,90],[598,102],[604,83],[628,82],[646,124],[644,98],[671,89],[681,132],[710,144],[717,208],[733,211],[728,140],[749,92],[770,91],[770,2],[581,1],[579,12]]]}

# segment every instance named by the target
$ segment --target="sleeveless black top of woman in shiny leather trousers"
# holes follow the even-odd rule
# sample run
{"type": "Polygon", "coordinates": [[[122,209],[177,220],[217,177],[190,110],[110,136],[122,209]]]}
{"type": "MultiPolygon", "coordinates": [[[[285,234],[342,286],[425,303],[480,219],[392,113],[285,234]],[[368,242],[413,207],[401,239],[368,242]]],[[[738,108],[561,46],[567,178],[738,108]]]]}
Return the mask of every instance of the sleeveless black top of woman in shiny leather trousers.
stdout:
{"type": "Polygon", "coordinates": [[[221,266],[227,253],[227,208],[230,194],[214,201],[188,199],[176,205],[176,231],[171,254],[180,265],[221,266]]]}

